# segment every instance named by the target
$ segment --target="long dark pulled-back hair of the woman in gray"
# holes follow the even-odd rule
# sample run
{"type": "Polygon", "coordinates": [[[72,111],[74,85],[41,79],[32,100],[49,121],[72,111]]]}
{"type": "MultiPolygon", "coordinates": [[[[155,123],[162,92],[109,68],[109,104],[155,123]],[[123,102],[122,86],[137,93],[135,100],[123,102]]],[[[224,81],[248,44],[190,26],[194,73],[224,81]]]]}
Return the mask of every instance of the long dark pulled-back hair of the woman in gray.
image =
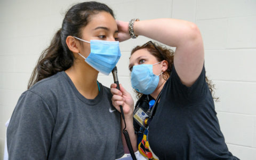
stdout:
{"type": "Polygon", "coordinates": [[[68,36],[82,38],[82,28],[90,22],[90,17],[102,11],[110,13],[115,18],[113,11],[106,4],[98,2],[78,3],[67,11],[62,27],[54,35],[50,46],[42,52],[38,59],[29,79],[28,89],[36,82],[59,71],[67,70],[73,65],[74,55],[68,49],[66,38],[68,36]]]}

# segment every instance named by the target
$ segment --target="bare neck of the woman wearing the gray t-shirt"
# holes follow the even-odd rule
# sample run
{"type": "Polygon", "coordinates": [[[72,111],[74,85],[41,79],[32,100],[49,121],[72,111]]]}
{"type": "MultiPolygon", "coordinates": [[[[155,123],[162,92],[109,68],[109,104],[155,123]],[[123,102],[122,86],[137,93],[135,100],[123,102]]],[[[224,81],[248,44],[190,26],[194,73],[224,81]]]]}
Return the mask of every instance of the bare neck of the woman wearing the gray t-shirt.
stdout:
{"type": "Polygon", "coordinates": [[[99,94],[97,78],[99,72],[84,60],[75,59],[73,66],[65,70],[76,89],[87,99],[94,99],[99,94]]]}

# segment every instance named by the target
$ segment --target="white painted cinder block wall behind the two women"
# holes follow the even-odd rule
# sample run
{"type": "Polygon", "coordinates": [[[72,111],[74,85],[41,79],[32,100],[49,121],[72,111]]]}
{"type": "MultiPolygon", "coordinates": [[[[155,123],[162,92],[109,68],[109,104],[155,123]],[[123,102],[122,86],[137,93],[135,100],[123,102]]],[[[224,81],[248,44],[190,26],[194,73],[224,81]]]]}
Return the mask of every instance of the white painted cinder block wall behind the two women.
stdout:
{"type": "MultiPolygon", "coordinates": [[[[42,50],[61,27],[74,0],[0,1],[0,159],[6,136],[5,122],[26,90],[42,50]]],[[[241,159],[256,157],[256,1],[158,0],[101,1],[119,20],[177,18],[192,21],[201,30],[207,76],[216,85],[215,103],[229,150],[241,159]]],[[[121,43],[119,82],[132,92],[127,65],[130,51],[148,39],[121,43]]],[[[106,86],[111,75],[99,74],[106,86]]]]}

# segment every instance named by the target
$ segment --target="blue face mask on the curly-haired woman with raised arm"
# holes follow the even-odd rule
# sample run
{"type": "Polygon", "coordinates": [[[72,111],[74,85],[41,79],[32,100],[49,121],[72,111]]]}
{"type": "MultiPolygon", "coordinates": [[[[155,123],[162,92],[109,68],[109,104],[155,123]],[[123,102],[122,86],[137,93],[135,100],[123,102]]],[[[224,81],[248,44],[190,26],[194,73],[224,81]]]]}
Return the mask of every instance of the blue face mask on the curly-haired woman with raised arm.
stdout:
{"type": "Polygon", "coordinates": [[[136,65],[132,68],[131,81],[133,89],[143,94],[151,94],[158,85],[159,75],[157,76],[153,73],[153,65],[136,65]]]}

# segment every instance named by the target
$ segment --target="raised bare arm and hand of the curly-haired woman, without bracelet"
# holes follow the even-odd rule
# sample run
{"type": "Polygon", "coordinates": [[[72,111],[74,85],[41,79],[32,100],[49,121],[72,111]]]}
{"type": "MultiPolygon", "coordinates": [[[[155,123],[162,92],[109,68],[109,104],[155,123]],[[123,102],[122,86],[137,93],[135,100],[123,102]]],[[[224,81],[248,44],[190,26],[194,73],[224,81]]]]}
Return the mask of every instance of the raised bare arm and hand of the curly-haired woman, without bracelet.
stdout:
{"type": "MultiPolygon", "coordinates": [[[[125,37],[128,28],[124,26],[128,22],[117,21],[117,25],[121,30],[120,36],[125,37]]],[[[203,68],[204,47],[201,33],[194,23],[178,19],[143,20],[135,21],[133,30],[135,35],[176,47],[174,66],[181,82],[191,86],[196,81],[203,68]]],[[[121,38],[121,41],[125,41],[125,38],[121,38]]]]}

